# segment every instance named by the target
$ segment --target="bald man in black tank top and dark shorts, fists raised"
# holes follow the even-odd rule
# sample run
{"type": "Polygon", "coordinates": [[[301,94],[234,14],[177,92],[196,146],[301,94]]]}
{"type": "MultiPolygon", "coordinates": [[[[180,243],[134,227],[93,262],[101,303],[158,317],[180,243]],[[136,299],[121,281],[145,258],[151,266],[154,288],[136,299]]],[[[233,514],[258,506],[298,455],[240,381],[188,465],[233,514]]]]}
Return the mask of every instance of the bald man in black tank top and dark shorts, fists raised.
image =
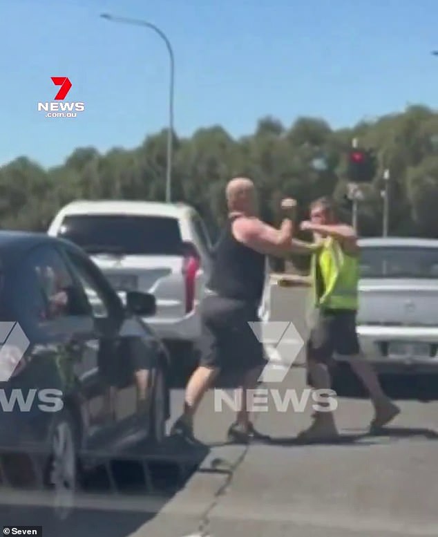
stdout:
{"type": "MultiPolygon", "coordinates": [[[[173,434],[194,441],[193,417],[204,393],[218,373],[231,373],[242,386],[240,411],[228,431],[230,442],[247,443],[256,435],[246,406],[247,390],[255,388],[266,364],[263,346],[249,326],[259,321],[258,308],[265,283],[266,256],[284,256],[291,250],[292,215],[279,229],[258,217],[254,183],[234,178],[226,189],[228,219],[215,248],[207,296],[201,307],[200,366],[193,373],[184,399],[184,411],[173,434]]],[[[284,211],[296,203],[285,199],[284,211]]]]}

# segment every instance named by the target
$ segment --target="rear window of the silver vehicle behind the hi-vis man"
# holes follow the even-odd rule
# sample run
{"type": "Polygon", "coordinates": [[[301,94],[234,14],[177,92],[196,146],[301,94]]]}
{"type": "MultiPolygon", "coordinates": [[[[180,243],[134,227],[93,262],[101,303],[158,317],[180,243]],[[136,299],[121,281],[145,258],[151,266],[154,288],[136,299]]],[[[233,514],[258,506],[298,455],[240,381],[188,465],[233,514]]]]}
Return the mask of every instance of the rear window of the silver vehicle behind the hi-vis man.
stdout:
{"type": "Polygon", "coordinates": [[[438,248],[362,247],[361,278],[436,278],[438,248]]]}

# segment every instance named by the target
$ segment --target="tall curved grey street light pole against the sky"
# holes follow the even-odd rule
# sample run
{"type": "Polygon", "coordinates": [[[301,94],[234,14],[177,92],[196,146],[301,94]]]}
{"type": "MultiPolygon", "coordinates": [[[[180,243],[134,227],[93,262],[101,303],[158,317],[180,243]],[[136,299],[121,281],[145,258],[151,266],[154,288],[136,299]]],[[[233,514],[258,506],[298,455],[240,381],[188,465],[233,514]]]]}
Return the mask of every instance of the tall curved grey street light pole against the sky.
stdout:
{"type": "Polygon", "coordinates": [[[172,186],[172,153],[173,153],[173,94],[175,86],[175,58],[173,56],[173,49],[171,42],[166,34],[148,21],[142,21],[140,19],[128,19],[126,17],[115,17],[108,15],[108,13],[102,13],[100,15],[102,19],[106,19],[112,22],[119,22],[123,24],[132,24],[134,26],[144,26],[153,30],[158,34],[166,44],[167,51],[169,53],[170,61],[170,81],[169,81],[169,129],[167,131],[167,158],[166,158],[166,202],[171,201],[171,186],[172,186]]]}

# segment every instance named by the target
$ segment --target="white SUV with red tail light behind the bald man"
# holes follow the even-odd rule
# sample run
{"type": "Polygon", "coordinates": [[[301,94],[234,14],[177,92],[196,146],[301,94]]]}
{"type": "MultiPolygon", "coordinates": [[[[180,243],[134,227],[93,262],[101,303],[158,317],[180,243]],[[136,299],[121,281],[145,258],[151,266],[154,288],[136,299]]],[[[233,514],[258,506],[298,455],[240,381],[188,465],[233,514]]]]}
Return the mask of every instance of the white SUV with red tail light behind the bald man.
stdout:
{"type": "Polygon", "coordinates": [[[191,351],[200,334],[198,304],[211,270],[209,234],[193,208],[75,201],[59,211],[48,234],[82,247],[122,299],[127,290],[154,294],[157,312],[147,323],[171,351],[180,354],[182,346],[191,351]]]}

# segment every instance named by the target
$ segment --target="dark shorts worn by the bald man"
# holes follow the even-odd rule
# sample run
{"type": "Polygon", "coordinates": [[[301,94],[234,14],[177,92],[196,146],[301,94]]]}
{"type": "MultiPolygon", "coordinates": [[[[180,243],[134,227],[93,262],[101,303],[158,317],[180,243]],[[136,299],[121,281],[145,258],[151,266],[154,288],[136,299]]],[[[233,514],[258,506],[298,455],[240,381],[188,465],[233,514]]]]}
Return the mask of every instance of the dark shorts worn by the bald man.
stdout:
{"type": "Polygon", "coordinates": [[[222,373],[245,373],[267,364],[263,344],[249,322],[258,322],[258,305],[206,296],[201,305],[200,365],[222,373]]]}

